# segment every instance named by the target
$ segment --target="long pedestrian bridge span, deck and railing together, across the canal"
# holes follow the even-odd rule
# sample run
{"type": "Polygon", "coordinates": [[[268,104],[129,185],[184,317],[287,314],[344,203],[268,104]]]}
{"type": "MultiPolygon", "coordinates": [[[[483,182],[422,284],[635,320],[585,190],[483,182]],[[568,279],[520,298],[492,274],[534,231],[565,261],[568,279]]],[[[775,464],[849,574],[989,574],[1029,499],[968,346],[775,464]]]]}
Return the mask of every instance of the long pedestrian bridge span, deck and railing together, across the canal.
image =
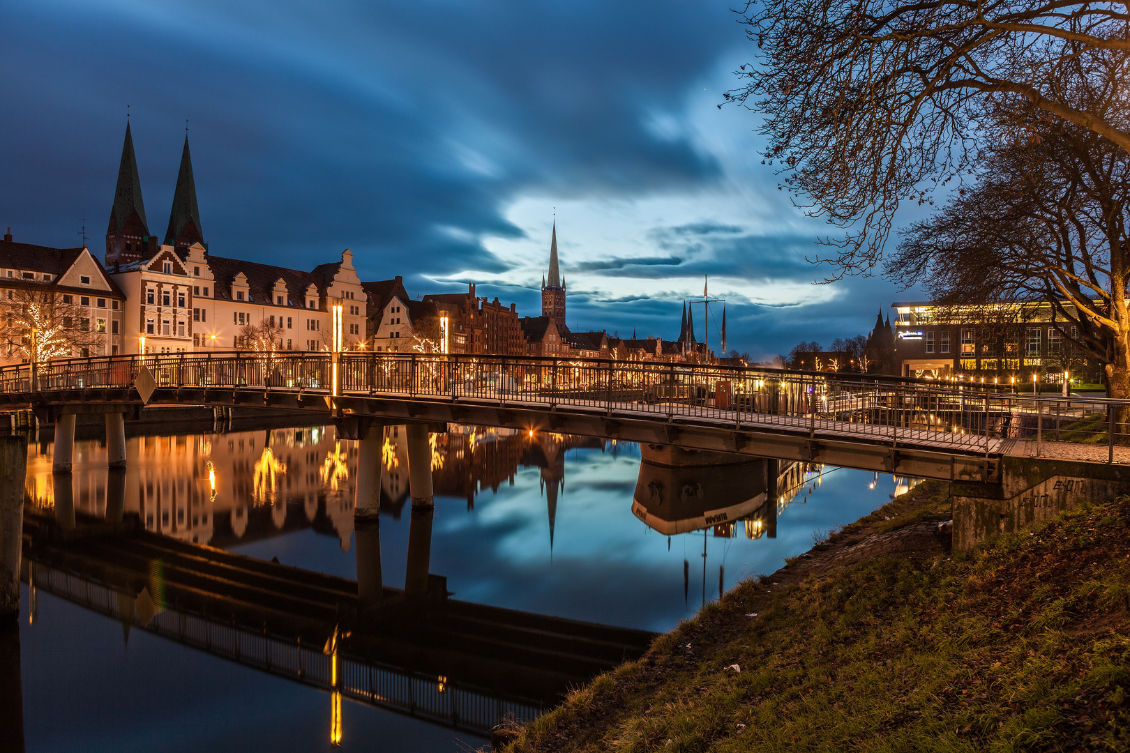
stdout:
{"type": "Polygon", "coordinates": [[[1112,404],[860,374],[462,354],[217,351],[0,369],[0,405],[56,424],[144,405],[330,410],[346,437],[454,421],[980,482],[999,482],[1008,457],[1130,464],[1112,404]]]}

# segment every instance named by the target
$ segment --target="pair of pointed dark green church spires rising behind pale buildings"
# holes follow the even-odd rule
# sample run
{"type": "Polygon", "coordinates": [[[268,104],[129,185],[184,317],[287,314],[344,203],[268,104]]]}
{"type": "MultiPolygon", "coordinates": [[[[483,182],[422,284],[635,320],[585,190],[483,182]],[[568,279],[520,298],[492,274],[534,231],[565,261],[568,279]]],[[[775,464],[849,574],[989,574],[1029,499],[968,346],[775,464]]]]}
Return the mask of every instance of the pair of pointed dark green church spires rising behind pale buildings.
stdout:
{"type": "MultiPolygon", "coordinates": [[[[203,229],[200,227],[200,210],[197,209],[197,184],[192,180],[188,134],[184,137],[181,172],[176,176],[176,191],[173,193],[173,210],[168,214],[168,229],[165,230],[162,243],[177,248],[188,248],[194,243],[207,247],[203,229]]],[[[160,243],[157,236],[149,233],[149,222],[145,216],[133,137],[127,123],[122,164],[118,168],[118,190],[114,192],[110,227],[106,229],[106,266],[113,269],[148,259],[157,252],[158,245],[160,243]]]]}

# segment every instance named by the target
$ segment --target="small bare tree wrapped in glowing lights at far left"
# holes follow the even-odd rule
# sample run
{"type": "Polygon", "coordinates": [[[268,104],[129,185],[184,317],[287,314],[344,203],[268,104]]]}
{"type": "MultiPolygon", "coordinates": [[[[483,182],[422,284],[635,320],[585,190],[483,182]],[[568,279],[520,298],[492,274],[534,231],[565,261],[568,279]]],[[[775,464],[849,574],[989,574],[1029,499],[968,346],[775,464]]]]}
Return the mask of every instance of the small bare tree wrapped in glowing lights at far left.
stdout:
{"type": "Polygon", "coordinates": [[[76,306],[73,296],[52,288],[0,291],[0,323],[3,354],[33,362],[98,354],[96,349],[105,340],[89,308],[76,306]]]}

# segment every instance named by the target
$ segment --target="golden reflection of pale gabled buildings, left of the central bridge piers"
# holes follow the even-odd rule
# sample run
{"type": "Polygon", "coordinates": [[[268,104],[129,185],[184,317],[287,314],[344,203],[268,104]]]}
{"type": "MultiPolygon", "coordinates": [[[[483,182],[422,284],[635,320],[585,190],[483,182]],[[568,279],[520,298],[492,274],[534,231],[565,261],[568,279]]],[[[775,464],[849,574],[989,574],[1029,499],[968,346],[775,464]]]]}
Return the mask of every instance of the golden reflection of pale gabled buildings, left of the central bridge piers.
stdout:
{"type": "MultiPolygon", "coordinates": [[[[127,452],[122,511],[149,531],[225,546],[312,525],[349,545],[356,449],[332,427],[134,437],[127,452]]],[[[72,473],[56,476],[51,446],[31,446],[28,496],[56,513],[105,516],[105,453],[97,440],[77,441],[72,473]]]]}

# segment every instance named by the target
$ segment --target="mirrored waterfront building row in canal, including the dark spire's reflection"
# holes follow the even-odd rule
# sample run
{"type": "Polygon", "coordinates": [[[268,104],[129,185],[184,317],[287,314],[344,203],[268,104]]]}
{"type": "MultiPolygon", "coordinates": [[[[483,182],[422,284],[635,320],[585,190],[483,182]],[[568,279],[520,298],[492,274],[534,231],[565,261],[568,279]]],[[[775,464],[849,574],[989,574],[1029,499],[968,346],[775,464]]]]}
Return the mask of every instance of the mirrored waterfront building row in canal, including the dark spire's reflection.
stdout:
{"type": "MultiPolygon", "coordinates": [[[[431,440],[435,493],[464,498],[468,509],[484,490],[513,484],[519,467],[540,469],[550,545],[566,450],[606,446],[584,437],[460,424],[431,440]]],[[[149,531],[223,548],[312,527],[349,548],[357,447],[337,439],[332,426],[133,437],[127,453],[118,515],[136,514],[149,531]]],[[[382,511],[399,518],[409,497],[403,427],[385,428],[382,463],[382,511]]],[[[113,472],[98,440],[76,441],[69,476],[53,475],[50,443],[28,447],[27,467],[28,496],[41,507],[58,506],[64,517],[104,517],[114,507],[113,472]]]]}

